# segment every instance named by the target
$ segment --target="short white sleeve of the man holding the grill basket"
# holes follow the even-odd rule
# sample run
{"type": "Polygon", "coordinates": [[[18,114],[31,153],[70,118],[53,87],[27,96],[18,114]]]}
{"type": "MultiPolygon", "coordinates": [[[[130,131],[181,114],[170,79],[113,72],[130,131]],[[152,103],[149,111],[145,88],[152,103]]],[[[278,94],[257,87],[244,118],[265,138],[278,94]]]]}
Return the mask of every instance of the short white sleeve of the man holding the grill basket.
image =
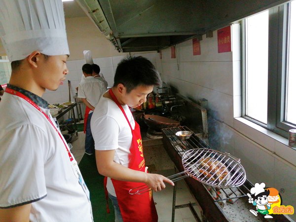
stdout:
{"type": "Polygon", "coordinates": [[[91,133],[95,141],[95,149],[111,150],[118,148],[118,123],[109,116],[93,119],[90,123],[91,133]]]}

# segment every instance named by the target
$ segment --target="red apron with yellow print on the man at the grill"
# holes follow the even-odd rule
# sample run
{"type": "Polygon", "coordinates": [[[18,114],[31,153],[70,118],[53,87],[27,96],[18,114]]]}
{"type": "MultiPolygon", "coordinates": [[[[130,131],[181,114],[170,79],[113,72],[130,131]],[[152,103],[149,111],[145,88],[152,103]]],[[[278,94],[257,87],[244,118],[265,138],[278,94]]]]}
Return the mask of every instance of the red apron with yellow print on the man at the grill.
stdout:
{"type": "MultiPolygon", "coordinates": [[[[132,129],[125,111],[119,104],[111,89],[109,90],[109,93],[113,101],[124,114],[126,121],[128,122],[132,131],[133,138],[130,147],[131,155],[129,157],[130,161],[128,168],[145,172],[145,159],[143,154],[140,126],[135,121],[135,129],[132,129]]],[[[115,189],[118,205],[124,222],[157,222],[158,216],[152,197],[152,191],[150,190],[149,192],[143,193],[141,195],[129,194],[130,189],[145,185],[144,183],[117,181],[114,179],[111,179],[111,181],[115,189]]]]}

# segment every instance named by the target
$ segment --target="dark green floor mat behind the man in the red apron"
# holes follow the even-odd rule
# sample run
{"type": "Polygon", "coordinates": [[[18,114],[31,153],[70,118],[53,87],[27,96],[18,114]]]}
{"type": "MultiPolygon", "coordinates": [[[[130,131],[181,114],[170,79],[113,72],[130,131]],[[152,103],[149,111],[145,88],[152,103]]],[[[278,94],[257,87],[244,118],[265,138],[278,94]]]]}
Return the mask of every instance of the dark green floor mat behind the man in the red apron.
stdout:
{"type": "Polygon", "coordinates": [[[111,200],[109,200],[110,214],[106,211],[104,177],[98,173],[95,155],[84,154],[79,163],[79,169],[90,192],[94,222],[114,222],[111,200]]]}

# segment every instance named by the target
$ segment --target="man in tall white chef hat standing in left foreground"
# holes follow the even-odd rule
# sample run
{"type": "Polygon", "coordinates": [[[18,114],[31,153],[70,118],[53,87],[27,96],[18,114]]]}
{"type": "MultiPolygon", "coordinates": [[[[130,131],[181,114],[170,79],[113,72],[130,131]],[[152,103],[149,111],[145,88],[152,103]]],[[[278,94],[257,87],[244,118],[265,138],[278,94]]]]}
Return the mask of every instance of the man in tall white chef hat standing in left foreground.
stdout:
{"type": "Polygon", "coordinates": [[[12,73],[0,103],[0,221],[91,222],[89,191],[41,97],[66,79],[61,0],[0,0],[12,73]]]}

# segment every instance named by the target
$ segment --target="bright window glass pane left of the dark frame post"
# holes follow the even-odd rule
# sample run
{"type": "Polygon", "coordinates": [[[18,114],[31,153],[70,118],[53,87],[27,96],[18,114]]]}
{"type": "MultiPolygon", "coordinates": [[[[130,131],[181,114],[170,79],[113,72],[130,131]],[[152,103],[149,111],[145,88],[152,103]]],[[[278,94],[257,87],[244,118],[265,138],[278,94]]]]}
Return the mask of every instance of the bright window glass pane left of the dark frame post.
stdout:
{"type": "Polygon", "coordinates": [[[267,124],[268,11],[246,19],[246,115],[267,124]]]}

